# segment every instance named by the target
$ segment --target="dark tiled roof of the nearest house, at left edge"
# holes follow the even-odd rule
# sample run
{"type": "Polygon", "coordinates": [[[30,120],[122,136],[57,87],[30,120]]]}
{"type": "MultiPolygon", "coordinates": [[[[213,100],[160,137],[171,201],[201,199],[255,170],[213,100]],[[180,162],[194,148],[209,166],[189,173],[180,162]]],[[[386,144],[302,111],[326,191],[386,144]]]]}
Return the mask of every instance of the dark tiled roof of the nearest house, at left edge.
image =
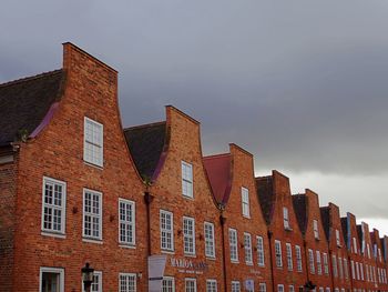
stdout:
{"type": "Polygon", "coordinates": [[[61,98],[64,77],[60,69],[0,84],[0,147],[33,133],[61,98]]]}

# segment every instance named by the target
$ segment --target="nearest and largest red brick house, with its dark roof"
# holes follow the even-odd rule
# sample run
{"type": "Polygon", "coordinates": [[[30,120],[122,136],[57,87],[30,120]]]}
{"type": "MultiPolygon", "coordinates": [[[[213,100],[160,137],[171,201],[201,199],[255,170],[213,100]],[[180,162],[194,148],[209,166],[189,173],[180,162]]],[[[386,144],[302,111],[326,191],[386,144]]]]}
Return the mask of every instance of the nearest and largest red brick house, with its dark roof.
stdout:
{"type": "Polygon", "coordinates": [[[144,291],[143,184],[116,71],[64,43],[62,69],[2,84],[0,97],[0,291],[81,291],[86,262],[94,291],[144,291]]]}

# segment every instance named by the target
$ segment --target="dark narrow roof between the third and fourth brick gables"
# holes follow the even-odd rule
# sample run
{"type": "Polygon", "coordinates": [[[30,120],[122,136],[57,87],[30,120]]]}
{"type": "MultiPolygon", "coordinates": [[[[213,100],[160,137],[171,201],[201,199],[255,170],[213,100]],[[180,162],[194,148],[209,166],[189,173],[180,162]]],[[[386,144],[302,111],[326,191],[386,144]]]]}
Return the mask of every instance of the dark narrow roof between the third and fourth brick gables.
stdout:
{"type": "Polygon", "coordinates": [[[256,188],[264,220],[267,225],[269,225],[276,201],[273,185],[273,175],[256,178],[256,188]]]}

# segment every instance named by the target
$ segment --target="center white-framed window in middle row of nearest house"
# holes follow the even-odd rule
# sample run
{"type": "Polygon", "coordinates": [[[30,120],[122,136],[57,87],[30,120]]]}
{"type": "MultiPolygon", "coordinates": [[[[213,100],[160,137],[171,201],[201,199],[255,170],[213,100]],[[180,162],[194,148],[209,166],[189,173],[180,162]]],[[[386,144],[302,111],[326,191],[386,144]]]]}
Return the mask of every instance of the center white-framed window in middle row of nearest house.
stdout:
{"type": "Polygon", "coordinates": [[[88,239],[102,240],[102,193],[83,189],[83,231],[88,239]]]}

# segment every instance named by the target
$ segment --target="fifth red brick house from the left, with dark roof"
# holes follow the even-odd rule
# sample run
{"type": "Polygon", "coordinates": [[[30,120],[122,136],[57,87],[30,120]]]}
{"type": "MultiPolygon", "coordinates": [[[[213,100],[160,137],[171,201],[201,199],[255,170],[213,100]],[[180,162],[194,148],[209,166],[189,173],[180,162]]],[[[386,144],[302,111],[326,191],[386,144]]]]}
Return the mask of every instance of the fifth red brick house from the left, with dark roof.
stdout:
{"type": "MultiPolygon", "coordinates": [[[[293,203],[304,238],[307,281],[310,281],[319,292],[329,291],[331,288],[329,249],[320,218],[318,194],[307,189],[305,193],[293,195],[293,203]]],[[[337,261],[337,258],[333,259],[337,261]]],[[[341,264],[340,258],[338,263],[341,264]]],[[[339,274],[344,276],[343,270],[339,274]]]]}

